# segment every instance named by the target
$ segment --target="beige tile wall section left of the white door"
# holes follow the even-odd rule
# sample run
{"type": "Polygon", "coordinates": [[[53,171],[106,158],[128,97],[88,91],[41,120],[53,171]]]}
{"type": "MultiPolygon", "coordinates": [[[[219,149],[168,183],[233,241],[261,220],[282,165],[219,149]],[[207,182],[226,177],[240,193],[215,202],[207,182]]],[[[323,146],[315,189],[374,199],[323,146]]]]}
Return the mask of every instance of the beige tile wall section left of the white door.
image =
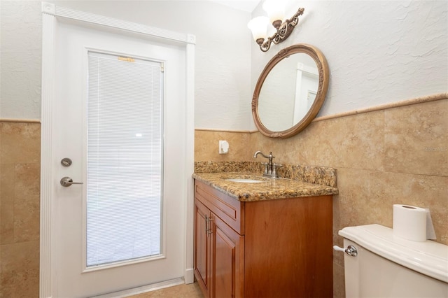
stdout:
{"type": "Polygon", "coordinates": [[[0,121],[0,297],[38,297],[39,123],[0,121]]]}

